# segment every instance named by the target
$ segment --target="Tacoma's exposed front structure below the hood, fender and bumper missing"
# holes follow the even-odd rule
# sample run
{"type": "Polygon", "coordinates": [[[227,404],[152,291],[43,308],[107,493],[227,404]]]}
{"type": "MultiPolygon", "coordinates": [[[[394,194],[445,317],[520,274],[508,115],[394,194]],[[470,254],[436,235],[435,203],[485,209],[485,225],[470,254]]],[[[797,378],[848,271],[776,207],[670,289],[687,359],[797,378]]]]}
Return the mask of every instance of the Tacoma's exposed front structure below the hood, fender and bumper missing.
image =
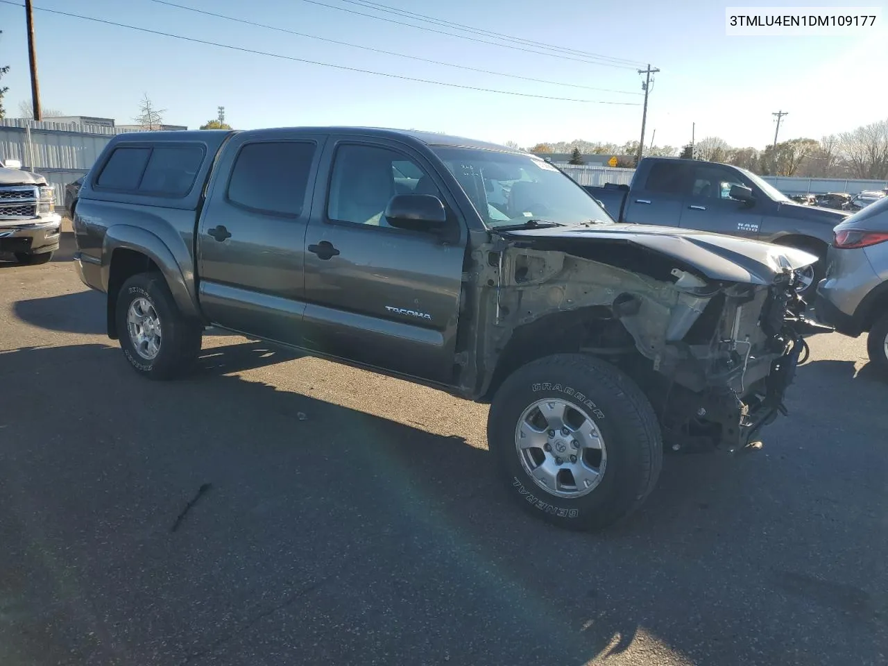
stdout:
{"type": "Polygon", "coordinates": [[[478,308],[490,311],[474,318],[488,322],[476,336],[481,392],[530,338],[537,356],[587,351],[624,369],[676,450],[742,448],[785,411],[805,348],[789,271],[768,286],[713,281],[650,251],[609,259],[505,241],[476,258],[478,308]]]}

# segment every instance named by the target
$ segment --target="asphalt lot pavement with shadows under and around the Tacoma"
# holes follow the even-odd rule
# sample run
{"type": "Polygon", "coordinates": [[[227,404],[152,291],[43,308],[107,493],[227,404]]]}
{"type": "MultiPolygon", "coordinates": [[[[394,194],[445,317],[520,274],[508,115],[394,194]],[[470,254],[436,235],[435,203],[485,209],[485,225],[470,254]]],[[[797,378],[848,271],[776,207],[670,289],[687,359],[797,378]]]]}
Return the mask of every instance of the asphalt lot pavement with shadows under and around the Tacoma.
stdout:
{"type": "Polygon", "coordinates": [[[507,501],[487,408],[209,335],[137,377],[0,264],[0,664],[885,664],[888,381],[810,338],[789,416],[599,534],[507,501]]]}

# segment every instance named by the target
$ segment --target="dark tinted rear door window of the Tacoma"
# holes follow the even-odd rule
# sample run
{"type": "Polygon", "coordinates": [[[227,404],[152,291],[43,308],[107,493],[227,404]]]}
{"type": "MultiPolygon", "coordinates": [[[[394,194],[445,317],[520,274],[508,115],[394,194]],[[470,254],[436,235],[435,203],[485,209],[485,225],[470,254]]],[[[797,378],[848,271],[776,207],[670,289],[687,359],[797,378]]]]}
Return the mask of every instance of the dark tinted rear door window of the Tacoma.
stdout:
{"type": "Polygon", "coordinates": [[[305,202],[314,150],[307,141],[245,144],[228,181],[228,201],[247,210],[297,217],[305,202]]]}

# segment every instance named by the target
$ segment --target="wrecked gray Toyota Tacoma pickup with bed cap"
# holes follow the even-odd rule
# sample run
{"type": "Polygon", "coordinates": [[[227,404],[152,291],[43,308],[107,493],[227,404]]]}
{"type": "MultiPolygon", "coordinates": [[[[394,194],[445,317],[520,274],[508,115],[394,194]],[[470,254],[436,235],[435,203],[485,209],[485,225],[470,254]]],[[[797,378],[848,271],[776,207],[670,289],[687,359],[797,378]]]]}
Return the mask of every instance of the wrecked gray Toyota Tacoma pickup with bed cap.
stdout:
{"type": "Polygon", "coordinates": [[[355,128],[118,135],[74,230],[140,375],[212,325],[490,402],[511,496],[577,529],[644,501],[664,440],[735,451],[784,411],[815,259],[614,224],[526,153],[355,128]]]}

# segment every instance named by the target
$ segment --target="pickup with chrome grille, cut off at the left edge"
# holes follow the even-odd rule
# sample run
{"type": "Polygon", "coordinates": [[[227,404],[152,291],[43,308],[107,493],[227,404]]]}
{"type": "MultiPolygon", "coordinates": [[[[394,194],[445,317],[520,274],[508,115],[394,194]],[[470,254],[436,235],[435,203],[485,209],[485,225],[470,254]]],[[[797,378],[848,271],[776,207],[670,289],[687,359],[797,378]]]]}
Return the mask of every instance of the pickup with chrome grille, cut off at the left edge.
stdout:
{"type": "Polygon", "coordinates": [[[0,252],[20,264],[45,264],[59,249],[61,216],[46,178],[21,170],[21,163],[0,163],[0,252]]]}

